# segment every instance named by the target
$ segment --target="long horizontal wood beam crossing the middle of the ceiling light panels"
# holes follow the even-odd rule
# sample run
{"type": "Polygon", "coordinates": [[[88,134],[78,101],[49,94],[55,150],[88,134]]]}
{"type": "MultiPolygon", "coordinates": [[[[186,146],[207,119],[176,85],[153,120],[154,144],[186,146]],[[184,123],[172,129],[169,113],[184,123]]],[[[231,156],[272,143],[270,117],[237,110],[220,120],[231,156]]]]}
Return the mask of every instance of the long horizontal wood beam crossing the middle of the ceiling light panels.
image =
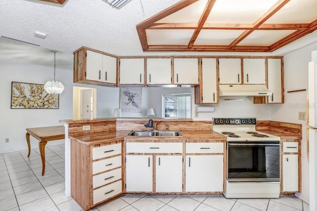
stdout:
{"type": "MultiPolygon", "coordinates": [[[[309,29],[309,23],[287,23],[287,24],[262,24],[257,30],[300,30],[309,29]]],[[[194,23],[154,23],[146,29],[196,29],[197,24],[194,23]]],[[[202,29],[209,30],[242,30],[252,29],[253,24],[248,23],[205,23],[202,29]]]]}

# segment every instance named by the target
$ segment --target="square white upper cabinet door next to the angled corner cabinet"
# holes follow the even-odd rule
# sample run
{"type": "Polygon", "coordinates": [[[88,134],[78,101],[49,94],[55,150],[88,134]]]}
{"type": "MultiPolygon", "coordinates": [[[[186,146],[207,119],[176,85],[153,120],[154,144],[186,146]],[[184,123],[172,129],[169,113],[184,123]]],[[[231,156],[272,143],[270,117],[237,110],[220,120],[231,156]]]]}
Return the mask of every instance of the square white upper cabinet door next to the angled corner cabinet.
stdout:
{"type": "Polygon", "coordinates": [[[120,59],[120,84],[144,83],[144,58],[120,59]]]}

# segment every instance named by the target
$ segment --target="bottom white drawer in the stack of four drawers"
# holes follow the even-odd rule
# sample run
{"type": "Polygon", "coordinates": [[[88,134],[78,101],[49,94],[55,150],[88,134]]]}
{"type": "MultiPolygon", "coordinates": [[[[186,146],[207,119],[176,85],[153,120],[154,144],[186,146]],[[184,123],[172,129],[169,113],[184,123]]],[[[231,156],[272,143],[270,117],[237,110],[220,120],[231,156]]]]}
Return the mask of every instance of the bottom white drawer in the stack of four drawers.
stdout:
{"type": "Polygon", "coordinates": [[[93,191],[93,204],[102,202],[122,192],[122,180],[116,181],[93,191]]]}

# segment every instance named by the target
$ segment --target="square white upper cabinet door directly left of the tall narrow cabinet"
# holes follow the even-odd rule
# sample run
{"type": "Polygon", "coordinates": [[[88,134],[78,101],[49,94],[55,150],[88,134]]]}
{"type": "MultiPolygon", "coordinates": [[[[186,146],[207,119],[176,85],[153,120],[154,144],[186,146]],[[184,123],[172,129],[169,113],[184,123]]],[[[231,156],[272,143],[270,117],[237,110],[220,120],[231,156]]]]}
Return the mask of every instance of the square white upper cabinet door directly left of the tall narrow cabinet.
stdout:
{"type": "Polygon", "coordinates": [[[174,84],[198,84],[198,58],[174,58],[174,84]]]}

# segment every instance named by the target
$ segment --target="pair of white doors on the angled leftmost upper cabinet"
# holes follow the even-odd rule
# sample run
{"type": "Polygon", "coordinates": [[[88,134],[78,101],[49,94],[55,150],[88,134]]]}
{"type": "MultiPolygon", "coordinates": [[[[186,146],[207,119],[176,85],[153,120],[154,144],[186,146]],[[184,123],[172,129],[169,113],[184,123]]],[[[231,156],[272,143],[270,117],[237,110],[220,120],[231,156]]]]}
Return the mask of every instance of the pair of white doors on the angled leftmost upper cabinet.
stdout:
{"type": "Polygon", "coordinates": [[[86,80],[116,84],[117,59],[87,50],[86,80]]]}

